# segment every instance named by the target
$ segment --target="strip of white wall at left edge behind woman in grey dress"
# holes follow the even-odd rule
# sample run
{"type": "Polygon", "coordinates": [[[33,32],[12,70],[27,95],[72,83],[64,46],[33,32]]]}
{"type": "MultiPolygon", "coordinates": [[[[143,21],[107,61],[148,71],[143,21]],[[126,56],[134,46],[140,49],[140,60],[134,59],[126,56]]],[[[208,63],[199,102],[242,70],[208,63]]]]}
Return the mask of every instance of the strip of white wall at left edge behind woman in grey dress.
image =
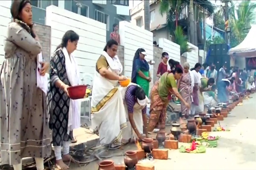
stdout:
{"type": "Polygon", "coordinates": [[[3,42],[6,37],[7,26],[11,22],[11,0],[1,0],[0,3],[0,68],[4,60],[3,42]]]}

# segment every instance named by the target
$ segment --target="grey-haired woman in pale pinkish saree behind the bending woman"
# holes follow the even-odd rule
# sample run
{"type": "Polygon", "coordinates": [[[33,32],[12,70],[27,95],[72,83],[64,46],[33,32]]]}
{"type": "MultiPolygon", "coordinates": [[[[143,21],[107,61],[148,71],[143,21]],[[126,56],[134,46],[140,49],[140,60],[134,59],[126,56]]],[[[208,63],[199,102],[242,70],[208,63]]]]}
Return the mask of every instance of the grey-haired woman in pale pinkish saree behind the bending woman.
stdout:
{"type": "MultiPolygon", "coordinates": [[[[184,72],[182,77],[178,80],[177,87],[180,89],[180,95],[182,98],[191,105],[192,100],[192,86],[191,86],[191,75],[189,73],[189,63],[184,63],[184,72]]],[[[189,116],[190,110],[186,108],[184,103],[181,103],[181,113],[185,114],[185,117],[189,116]]]]}

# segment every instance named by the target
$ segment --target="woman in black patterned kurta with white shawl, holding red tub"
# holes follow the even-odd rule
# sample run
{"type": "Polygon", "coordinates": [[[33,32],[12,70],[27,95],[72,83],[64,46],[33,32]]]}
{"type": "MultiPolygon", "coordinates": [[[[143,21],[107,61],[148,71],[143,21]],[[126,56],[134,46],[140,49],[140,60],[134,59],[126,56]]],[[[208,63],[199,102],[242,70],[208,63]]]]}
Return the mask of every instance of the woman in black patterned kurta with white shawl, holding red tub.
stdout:
{"type": "Polygon", "coordinates": [[[80,127],[79,102],[68,96],[67,88],[78,85],[79,71],[75,57],[79,35],[74,31],[67,31],[62,37],[61,44],[51,58],[49,115],[52,129],[52,144],[56,157],[56,166],[60,170],[69,167],[64,161],[70,161],[69,145],[72,134],[70,131],[80,127]],[[51,94],[51,95],[50,95],[51,94]],[[61,156],[61,146],[63,156],[61,156]]]}

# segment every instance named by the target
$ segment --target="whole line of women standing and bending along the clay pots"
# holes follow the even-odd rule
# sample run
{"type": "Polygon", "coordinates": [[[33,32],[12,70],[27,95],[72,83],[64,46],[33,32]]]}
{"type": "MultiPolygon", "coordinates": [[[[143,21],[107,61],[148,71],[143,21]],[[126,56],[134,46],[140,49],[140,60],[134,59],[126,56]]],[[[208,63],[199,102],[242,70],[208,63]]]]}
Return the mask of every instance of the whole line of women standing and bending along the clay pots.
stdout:
{"type": "MultiPolygon", "coordinates": [[[[50,62],[45,62],[40,57],[42,48],[33,28],[30,1],[13,1],[11,14],[13,22],[8,26],[5,60],[0,71],[1,164],[21,170],[22,158],[34,157],[37,170],[44,170],[44,158],[51,155],[52,144],[58,169],[68,169],[64,161],[72,160],[69,145],[75,140],[73,130],[80,127],[80,104],[70,99],[67,90],[79,84],[79,70],[72,55],[79,35],[67,31],[50,62]],[[48,69],[50,88],[46,91],[48,69]]],[[[96,62],[91,99],[92,128],[98,131],[104,146],[120,147],[135,139],[142,140],[155,128],[164,130],[166,108],[172,95],[180,100],[181,111],[188,117],[203,113],[205,106],[227,102],[232,91],[255,88],[256,74],[240,74],[236,68],[227,73],[225,65],[219,71],[214,65],[200,63],[190,68],[185,62],[182,67],[163,52],[156,73],[159,79],[150,91],[152,75],[143,48],[134,54],[131,83],[119,87],[119,81],[128,77],[121,75],[123,67],[116,55],[120,43],[118,26],[113,28],[112,39],[96,62]]]]}

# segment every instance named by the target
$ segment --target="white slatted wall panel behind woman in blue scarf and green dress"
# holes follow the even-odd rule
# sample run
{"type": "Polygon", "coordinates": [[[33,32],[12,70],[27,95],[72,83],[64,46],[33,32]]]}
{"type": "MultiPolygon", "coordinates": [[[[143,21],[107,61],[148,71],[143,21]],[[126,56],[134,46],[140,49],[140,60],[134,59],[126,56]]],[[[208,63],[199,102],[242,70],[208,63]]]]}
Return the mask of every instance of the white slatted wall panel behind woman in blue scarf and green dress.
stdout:
{"type": "MultiPolygon", "coordinates": [[[[119,23],[119,34],[121,45],[124,46],[124,73],[125,76],[131,77],[132,62],[138,48],[145,49],[147,61],[153,59],[153,34],[127,21],[119,23]]],[[[153,75],[153,67],[151,67],[151,75],[153,75]]]]}

